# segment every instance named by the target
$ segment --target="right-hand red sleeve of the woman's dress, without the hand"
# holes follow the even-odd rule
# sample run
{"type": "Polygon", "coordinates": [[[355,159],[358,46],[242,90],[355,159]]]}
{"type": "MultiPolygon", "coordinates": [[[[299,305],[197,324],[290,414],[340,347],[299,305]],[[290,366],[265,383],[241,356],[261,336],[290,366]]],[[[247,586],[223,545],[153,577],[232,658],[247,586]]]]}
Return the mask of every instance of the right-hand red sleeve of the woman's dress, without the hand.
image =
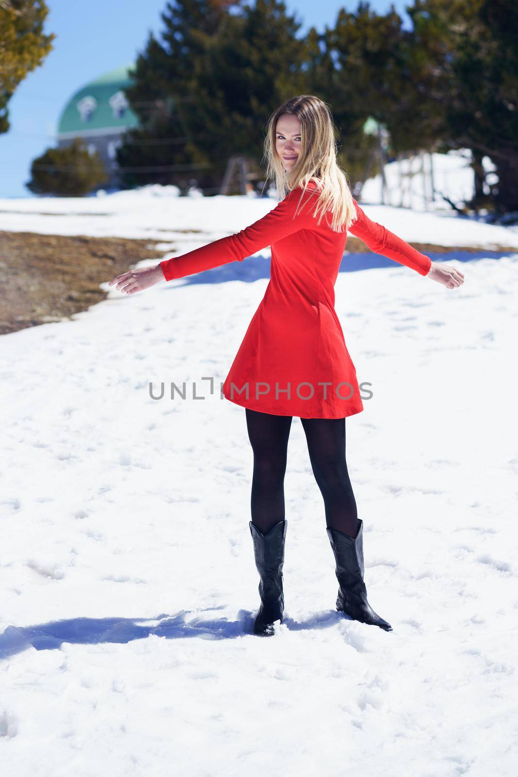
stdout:
{"type": "Polygon", "coordinates": [[[388,259],[405,264],[406,267],[411,267],[420,275],[428,274],[432,264],[429,256],[412,248],[407,242],[398,238],[394,232],[389,232],[383,225],[378,224],[377,221],[372,221],[356,200],[353,201],[356,205],[357,218],[350,225],[348,232],[363,240],[374,253],[381,253],[383,256],[388,256],[388,259]]]}

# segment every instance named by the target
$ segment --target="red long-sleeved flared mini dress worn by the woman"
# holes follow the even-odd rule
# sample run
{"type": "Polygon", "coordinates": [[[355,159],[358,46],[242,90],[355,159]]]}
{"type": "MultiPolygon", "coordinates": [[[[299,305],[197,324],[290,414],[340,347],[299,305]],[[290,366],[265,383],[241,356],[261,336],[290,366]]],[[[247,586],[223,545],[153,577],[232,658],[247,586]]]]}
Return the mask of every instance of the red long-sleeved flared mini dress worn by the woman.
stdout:
{"type": "MultiPolygon", "coordinates": [[[[315,188],[311,181],[295,218],[301,186],[241,232],[160,265],[165,280],[173,280],[241,262],[270,246],[270,280],[224,380],[223,395],[276,416],[343,418],[363,410],[356,368],[335,312],[334,286],[347,232],[333,232],[327,214],[317,224],[315,188]]],[[[428,256],[354,204],[358,215],[349,232],[375,253],[428,273],[428,256]]]]}

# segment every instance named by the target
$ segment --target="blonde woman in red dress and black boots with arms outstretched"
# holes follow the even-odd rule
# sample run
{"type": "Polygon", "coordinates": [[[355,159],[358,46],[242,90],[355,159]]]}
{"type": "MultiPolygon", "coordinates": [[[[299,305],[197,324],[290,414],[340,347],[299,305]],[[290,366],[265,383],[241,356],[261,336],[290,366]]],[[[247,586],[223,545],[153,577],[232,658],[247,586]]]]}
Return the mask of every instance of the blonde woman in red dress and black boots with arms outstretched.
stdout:
{"type": "Polygon", "coordinates": [[[117,275],[110,286],[134,294],[271,247],[269,284],[223,385],[224,397],[245,407],[254,458],[249,526],[261,598],[254,632],[270,636],[274,623],[283,622],[283,481],[293,416],[301,418],[324,500],[339,581],[336,608],[391,631],[370,608],[363,582],[363,521],[347,472],[345,429],[346,416],[360,413],[363,404],[335,312],[334,284],[348,230],[374,252],[447,288],[461,286],[464,275],[435,265],[363,213],[337,165],[332,115],[318,97],[294,97],[273,113],[265,157],[266,177],[287,195],[266,216],[183,256],[117,275]]]}

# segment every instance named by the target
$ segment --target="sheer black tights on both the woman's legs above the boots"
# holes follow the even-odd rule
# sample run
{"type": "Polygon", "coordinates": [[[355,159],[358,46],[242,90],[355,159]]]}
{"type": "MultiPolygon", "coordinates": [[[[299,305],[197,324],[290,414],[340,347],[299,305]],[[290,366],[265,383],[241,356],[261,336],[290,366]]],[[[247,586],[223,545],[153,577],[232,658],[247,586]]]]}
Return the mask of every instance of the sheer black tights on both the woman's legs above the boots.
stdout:
{"type": "MultiPolygon", "coordinates": [[[[252,523],[266,534],[284,520],[284,474],[293,416],[273,416],[246,410],[246,425],[254,455],[252,523]]],[[[356,537],[356,500],[346,464],[345,418],[301,418],[311,469],[325,506],[329,528],[356,537]]]]}

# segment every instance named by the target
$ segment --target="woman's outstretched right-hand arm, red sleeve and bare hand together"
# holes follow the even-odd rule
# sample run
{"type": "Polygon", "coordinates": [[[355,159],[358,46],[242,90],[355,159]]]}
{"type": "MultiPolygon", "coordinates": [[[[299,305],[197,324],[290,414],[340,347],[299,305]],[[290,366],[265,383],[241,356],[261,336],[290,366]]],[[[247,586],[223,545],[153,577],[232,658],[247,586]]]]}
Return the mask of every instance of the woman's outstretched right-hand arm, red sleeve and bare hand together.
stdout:
{"type": "Polygon", "coordinates": [[[374,253],[381,253],[395,262],[405,264],[406,267],[412,268],[420,275],[426,275],[432,280],[436,280],[447,288],[461,286],[464,283],[464,275],[459,270],[447,264],[434,263],[429,256],[412,248],[408,242],[399,238],[394,232],[390,232],[377,221],[372,221],[356,200],[353,201],[356,205],[357,218],[350,225],[349,232],[363,240],[374,253]]]}

